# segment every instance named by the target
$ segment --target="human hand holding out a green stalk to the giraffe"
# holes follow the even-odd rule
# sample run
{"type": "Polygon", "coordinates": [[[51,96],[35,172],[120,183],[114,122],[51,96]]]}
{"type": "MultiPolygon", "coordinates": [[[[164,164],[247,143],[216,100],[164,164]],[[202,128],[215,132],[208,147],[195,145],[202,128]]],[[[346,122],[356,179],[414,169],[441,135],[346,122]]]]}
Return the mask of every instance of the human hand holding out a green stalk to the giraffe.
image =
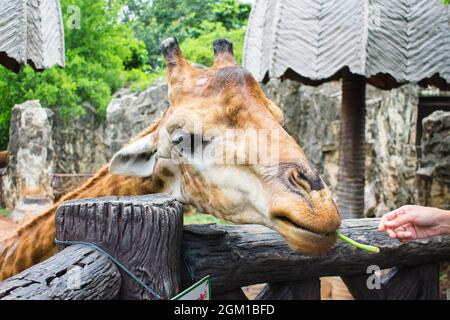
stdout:
{"type": "Polygon", "coordinates": [[[414,240],[450,233],[450,211],[407,205],[386,213],[379,231],[393,239],[414,240]]]}

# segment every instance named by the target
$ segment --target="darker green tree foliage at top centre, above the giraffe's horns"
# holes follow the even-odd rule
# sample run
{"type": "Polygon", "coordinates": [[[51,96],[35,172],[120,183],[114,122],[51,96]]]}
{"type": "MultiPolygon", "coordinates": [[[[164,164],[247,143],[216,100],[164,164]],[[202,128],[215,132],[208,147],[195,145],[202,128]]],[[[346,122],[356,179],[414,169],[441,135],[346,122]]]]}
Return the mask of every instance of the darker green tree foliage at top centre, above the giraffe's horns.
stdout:
{"type": "Polygon", "coordinates": [[[159,45],[165,38],[176,36],[182,43],[210,30],[219,35],[219,30],[241,29],[251,9],[239,0],[130,0],[127,8],[125,19],[145,43],[149,64],[155,70],[163,67],[159,45]]]}

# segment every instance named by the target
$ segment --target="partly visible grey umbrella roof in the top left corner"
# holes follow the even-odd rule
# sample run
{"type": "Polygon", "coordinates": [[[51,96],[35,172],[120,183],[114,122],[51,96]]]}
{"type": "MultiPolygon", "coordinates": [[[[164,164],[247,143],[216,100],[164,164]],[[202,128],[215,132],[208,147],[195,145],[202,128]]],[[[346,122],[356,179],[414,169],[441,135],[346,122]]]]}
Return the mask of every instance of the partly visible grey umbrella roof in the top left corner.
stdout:
{"type": "Polygon", "coordinates": [[[58,0],[0,0],[0,64],[15,72],[64,66],[64,26],[58,0]]]}

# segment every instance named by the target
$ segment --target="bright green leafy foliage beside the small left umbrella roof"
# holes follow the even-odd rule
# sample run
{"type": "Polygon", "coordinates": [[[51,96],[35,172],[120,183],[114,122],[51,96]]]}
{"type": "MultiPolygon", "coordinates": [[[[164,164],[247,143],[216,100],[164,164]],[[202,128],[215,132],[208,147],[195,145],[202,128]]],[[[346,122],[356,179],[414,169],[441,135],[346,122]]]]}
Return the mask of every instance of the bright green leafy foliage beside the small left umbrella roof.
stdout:
{"type": "Polygon", "coordinates": [[[66,67],[41,73],[24,67],[14,74],[0,67],[0,150],[8,142],[11,108],[30,99],[57,110],[64,119],[84,112],[89,101],[100,116],[105,115],[111,94],[127,81],[144,82],[145,44],[120,21],[123,0],[62,0],[65,22],[66,67]],[[80,27],[68,27],[74,18],[69,6],[80,8],[80,27]],[[129,74],[131,73],[131,75],[129,74]]]}

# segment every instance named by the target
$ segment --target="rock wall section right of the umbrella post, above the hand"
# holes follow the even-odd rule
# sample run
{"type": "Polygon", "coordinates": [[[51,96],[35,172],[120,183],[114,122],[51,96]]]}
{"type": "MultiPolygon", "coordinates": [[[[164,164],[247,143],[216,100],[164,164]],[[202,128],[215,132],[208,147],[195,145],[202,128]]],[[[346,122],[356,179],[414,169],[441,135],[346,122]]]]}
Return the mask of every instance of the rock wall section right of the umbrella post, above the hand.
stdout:
{"type": "Polygon", "coordinates": [[[419,90],[369,87],[366,122],[366,216],[417,203],[416,118],[419,90]]]}

